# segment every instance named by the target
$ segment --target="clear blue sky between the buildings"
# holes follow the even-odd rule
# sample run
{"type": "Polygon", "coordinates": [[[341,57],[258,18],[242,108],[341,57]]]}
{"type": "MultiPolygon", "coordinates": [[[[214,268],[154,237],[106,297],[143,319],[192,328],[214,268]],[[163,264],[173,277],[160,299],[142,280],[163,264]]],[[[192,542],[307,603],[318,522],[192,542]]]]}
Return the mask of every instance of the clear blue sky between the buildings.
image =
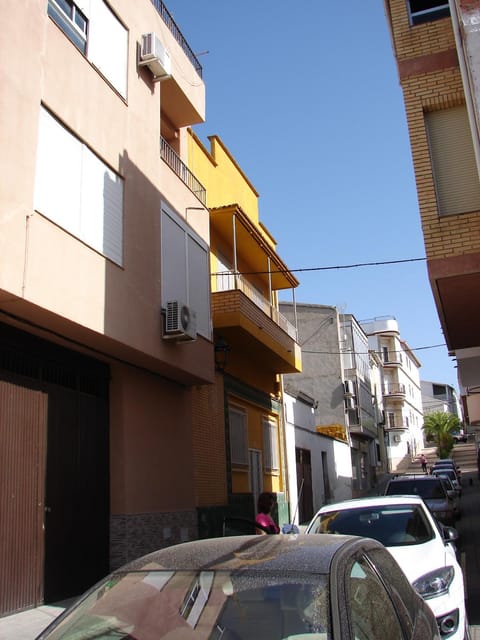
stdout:
{"type": "MultiPolygon", "coordinates": [[[[402,92],[382,0],[166,0],[203,66],[217,134],[260,194],[300,280],[297,302],[394,316],[410,347],[444,344],[423,258],[402,92]]],[[[283,299],[291,300],[290,294],[283,299]]],[[[445,346],[421,378],[458,387],[445,346]]]]}

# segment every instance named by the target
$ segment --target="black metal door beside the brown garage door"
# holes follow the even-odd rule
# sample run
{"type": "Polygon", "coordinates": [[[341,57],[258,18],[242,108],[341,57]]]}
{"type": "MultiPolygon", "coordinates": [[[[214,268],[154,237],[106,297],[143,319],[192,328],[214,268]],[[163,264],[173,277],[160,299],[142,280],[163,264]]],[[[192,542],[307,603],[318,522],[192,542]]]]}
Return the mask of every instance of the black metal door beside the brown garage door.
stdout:
{"type": "Polygon", "coordinates": [[[45,497],[45,602],[108,573],[107,401],[52,388],[45,497]]]}

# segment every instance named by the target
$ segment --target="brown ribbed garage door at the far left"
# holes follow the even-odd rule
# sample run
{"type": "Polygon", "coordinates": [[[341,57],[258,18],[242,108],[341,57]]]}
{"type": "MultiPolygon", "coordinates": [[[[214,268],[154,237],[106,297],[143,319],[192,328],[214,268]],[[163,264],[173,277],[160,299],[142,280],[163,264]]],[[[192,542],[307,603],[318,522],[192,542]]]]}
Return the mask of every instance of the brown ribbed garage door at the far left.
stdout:
{"type": "Polygon", "coordinates": [[[0,615],[43,601],[46,425],[45,393],[0,380],[0,615]]]}

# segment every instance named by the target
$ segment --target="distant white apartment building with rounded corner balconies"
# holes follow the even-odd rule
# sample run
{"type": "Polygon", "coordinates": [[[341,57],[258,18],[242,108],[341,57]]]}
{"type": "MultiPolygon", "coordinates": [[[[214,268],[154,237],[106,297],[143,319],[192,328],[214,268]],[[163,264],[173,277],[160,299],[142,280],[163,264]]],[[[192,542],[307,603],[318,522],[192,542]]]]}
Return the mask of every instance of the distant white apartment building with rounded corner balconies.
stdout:
{"type": "Polygon", "coordinates": [[[395,318],[374,318],[360,325],[369,348],[381,358],[387,457],[389,470],[395,471],[424,444],[421,363],[402,339],[395,318]]]}

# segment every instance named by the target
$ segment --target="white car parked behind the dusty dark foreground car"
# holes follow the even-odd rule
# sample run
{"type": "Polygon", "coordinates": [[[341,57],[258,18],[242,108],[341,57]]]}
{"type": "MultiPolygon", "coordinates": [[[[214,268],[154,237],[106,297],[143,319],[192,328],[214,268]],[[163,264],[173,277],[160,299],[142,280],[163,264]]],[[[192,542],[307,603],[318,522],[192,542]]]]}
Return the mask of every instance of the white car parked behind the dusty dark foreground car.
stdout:
{"type": "Polygon", "coordinates": [[[378,540],[429,604],[442,638],[469,637],[456,530],[440,524],[419,496],[376,496],[328,504],[317,512],[306,533],[378,540]]]}

